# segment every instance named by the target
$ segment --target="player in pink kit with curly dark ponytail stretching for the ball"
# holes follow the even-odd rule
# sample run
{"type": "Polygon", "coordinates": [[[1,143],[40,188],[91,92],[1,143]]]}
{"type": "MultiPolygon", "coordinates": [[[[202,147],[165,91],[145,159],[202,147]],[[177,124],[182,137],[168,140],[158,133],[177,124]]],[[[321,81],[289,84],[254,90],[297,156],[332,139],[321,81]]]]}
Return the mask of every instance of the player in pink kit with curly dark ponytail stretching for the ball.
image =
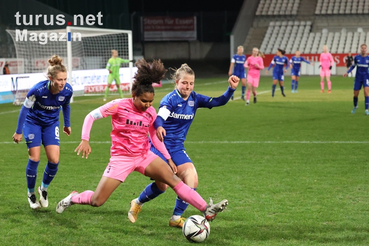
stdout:
{"type": "Polygon", "coordinates": [[[111,158],[96,190],[71,192],[59,202],[56,211],[61,214],[73,204],[99,207],[124,182],[128,174],[137,171],[168,184],[179,197],[200,210],[207,220],[212,221],[217,213],[226,208],[228,201],[223,200],[215,205],[211,201],[210,205],[207,205],[195,190],[184,184],[175,175],[177,167],[165,149],[164,143],[157,138],[153,126],[157,115],[152,106],[154,100],[152,83],[159,83],[167,70],[160,60],[149,63],[142,59],[135,65],[138,70],[133,77],[135,82],[132,85],[132,98],[116,99],[93,110],[83,123],[82,142],[75,151],[78,150],[78,154],[82,152],[82,158],[84,155],[87,158],[91,153],[89,139],[93,121],[112,116],[111,158]],[[148,133],[155,148],[168,159],[169,165],[150,151],[148,133]]]}

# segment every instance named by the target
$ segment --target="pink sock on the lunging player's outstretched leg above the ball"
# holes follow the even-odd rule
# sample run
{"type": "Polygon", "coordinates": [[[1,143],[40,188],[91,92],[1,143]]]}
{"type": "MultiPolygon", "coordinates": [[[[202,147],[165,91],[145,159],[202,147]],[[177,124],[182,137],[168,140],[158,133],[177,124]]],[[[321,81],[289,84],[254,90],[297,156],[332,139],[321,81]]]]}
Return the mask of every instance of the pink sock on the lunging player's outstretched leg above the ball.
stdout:
{"type": "Polygon", "coordinates": [[[196,209],[200,211],[204,211],[206,209],[207,203],[205,200],[199,195],[199,193],[191,189],[187,184],[184,184],[183,181],[174,186],[173,190],[182,200],[188,202],[196,209]]]}

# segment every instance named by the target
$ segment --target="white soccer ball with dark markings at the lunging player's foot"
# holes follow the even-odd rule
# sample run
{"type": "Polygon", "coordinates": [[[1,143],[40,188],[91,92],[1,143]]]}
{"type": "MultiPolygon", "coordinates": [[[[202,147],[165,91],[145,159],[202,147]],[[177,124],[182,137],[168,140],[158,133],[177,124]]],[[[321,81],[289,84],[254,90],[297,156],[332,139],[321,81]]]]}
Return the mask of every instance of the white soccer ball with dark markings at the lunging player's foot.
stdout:
{"type": "Polygon", "coordinates": [[[210,224],[203,216],[192,215],[182,227],[184,237],[192,243],[201,243],[210,233],[210,224]]]}

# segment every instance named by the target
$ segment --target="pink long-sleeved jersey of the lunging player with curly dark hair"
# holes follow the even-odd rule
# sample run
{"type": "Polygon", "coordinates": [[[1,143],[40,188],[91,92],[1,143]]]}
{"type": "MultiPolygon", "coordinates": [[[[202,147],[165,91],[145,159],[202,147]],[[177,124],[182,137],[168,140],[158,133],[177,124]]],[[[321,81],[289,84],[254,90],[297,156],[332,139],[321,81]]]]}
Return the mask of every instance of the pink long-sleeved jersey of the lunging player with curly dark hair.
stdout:
{"type": "Polygon", "coordinates": [[[110,134],[112,138],[111,155],[139,156],[150,150],[150,143],[147,134],[149,133],[154,147],[170,158],[164,143],[156,137],[156,130],[153,123],[156,119],[154,107],[148,108],[145,112],[139,111],[133,105],[132,98],[116,99],[98,108],[98,112],[90,113],[83,124],[82,139],[90,139],[92,122],[102,117],[112,116],[113,130],[110,134]]]}

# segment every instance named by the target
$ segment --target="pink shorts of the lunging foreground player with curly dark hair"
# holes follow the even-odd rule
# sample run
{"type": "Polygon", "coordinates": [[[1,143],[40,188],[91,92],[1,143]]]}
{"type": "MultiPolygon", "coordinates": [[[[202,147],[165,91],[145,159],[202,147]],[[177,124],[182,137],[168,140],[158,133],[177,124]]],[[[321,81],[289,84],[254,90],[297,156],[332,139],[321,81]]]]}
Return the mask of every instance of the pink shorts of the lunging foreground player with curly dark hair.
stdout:
{"type": "Polygon", "coordinates": [[[145,168],[156,158],[160,158],[151,151],[140,156],[114,155],[110,157],[108,166],[102,176],[124,182],[128,174],[133,171],[145,175],[145,168]]]}

